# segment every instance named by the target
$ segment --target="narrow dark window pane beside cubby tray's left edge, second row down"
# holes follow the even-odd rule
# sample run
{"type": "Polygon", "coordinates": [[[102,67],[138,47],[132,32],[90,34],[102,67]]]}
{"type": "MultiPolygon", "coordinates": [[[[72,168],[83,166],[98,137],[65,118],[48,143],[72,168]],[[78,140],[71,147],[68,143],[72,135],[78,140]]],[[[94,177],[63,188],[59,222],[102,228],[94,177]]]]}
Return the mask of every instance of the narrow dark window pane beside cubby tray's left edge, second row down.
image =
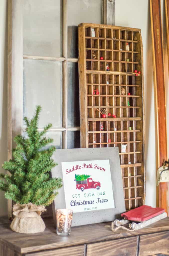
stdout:
{"type": "Polygon", "coordinates": [[[68,62],[68,127],[80,126],[78,63],[68,62]]]}

